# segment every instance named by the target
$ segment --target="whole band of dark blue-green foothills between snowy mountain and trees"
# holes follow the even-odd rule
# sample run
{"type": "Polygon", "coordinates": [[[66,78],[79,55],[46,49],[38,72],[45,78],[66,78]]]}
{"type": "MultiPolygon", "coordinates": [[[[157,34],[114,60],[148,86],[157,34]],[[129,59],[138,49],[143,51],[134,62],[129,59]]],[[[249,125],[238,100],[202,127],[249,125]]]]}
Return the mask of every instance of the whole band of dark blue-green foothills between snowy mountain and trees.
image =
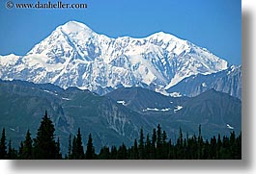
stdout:
{"type": "Polygon", "coordinates": [[[14,146],[27,129],[35,136],[45,110],[65,152],[69,136],[78,127],[83,143],[92,133],[98,150],[122,142],[131,145],[141,128],[150,133],[158,123],[171,138],[179,135],[180,127],[185,134],[197,134],[199,124],[205,138],[242,130],[241,101],[213,89],[192,98],[165,96],[142,87],[119,88],[100,96],[76,87],[0,81],[0,98],[0,127],[6,128],[14,146]]]}

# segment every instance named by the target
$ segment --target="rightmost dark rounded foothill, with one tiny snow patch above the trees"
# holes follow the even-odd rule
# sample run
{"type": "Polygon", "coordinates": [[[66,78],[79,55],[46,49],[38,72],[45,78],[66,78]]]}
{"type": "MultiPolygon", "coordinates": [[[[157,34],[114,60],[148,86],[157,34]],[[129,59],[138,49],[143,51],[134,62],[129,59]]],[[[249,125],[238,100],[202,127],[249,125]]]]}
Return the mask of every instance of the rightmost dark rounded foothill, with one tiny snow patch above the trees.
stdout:
{"type": "Polygon", "coordinates": [[[229,135],[242,131],[242,103],[236,97],[210,89],[186,101],[183,109],[174,115],[180,126],[196,128],[202,125],[205,137],[229,135]]]}

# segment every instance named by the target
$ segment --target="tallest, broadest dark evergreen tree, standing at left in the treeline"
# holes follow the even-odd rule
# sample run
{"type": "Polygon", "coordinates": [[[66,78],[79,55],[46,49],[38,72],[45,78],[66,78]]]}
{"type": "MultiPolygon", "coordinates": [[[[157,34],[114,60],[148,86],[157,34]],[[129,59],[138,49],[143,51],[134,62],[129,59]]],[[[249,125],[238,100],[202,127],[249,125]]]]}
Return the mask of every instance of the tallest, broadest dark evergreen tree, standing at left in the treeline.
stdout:
{"type": "Polygon", "coordinates": [[[56,158],[56,142],[54,140],[54,125],[45,112],[35,139],[34,158],[50,160],[56,158]]]}

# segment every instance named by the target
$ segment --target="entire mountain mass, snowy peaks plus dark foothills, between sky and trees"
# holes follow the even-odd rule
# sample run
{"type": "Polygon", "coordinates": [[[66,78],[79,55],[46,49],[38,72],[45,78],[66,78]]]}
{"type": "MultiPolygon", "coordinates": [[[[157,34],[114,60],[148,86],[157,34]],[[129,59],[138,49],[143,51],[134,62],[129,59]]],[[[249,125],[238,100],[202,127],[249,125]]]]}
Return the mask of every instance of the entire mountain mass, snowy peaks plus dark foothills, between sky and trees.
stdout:
{"type": "Polygon", "coordinates": [[[103,145],[131,145],[159,123],[204,138],[242,131],[242,66],[162,32],[110,38],[70,21],[24,56],[0,56],[0,128],[14,146],[47,110],[67,152],[81,129],[103,145]],[[65,145],[66,144],[66,145],[65,145]]]}

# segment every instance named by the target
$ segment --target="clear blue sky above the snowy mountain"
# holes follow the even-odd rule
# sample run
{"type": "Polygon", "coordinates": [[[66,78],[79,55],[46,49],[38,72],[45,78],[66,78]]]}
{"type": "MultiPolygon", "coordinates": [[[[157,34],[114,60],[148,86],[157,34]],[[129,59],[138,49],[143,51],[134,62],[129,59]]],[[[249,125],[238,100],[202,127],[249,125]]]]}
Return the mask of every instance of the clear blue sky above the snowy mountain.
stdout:
{"type": "Polygon", "coordinates": [[[8,1],[0,0],[0,55],[25,55],[57,26],[76,20],[108,37],[147,37],[163,31],[228,62],[242,63],[241,0],[62,0],[88,5],[79,10],[7,9],[8,1]]]}

